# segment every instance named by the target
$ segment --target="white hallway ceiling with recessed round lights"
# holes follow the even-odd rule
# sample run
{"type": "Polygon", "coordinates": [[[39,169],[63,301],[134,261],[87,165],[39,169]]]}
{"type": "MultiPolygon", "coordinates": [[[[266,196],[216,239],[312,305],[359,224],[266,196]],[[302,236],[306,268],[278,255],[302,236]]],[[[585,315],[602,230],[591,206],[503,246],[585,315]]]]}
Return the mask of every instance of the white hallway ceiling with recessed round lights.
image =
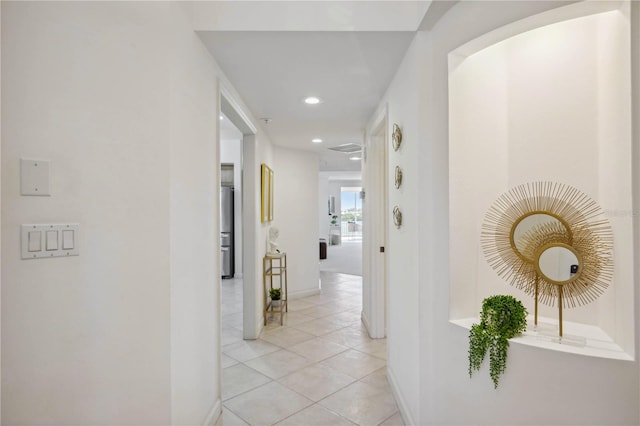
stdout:
{"type": "MultiPolygon", "coordinates": [[[[270,119],[262,127],[271,141],[278,146],[318,152],[320,170],[359,170],[359,161],[350,161],[347,154],[327,148],[345,143],[362,144],[366,123],[400,65],[430,2],[211,3],[202,3],[206,9],[193,11],[194,17],[198,17],[196,27],[201,29],[198,34],[253,115],[270,119]],[[224,3],[228,3],[227,7],[220,7],[224,3]],[[263,15],[273,16],[271,19],[263,16],[260,25],[256,21],[254,25],[261,31],[249,31],[246,19],[240,19],[241,12],[248,13],[251,5],[256,7],[258,3],[263,15]],[[263,9],[265,4],[272,4],[274,8],[263,9]],[[367,4],[375,7],[364,7],[367,4]],[[213,13],[210,8],[216,6],[217,13],[213,13]],[[243,9],[236,10],[233,6],[243,9]],[[337,6],[344,6],[339,9],[340,13],[336,12],[337,6]],[[207,13],[216,17],[208,27],[207,13]],[[288,19],[282,18],[283,13],[288,19]],[[277,30],[283,26],[296,28],[297,22],[309,19],[308,13],[321,17],[314,21],[316,28],[359,26],[367,30],[277,30]],[[228,19],[221,19],[225,14],[228,19]],[[242,30],[229,30],[234,28],[234,19],[239,21],[237,28],[242,30]],[[349,20],[353,21],[352,25],[349,20]],[[375,25],[383,30],[371,28],[375,25]],[[205,27],[209,30],[203,30],[205,27]],[[265,28],[269,30],[264,31],[265,28]],[[322,103],[305,105],[303,99],[311,95],[321,98],[322,103]],[[313,144],[313,138],[321,138],[323,143],[313,144]]],[[[200,5],[196,3],[197,7],[200,5]]],[[[252,16],[255,19],[255,15],[252,16]]]]}

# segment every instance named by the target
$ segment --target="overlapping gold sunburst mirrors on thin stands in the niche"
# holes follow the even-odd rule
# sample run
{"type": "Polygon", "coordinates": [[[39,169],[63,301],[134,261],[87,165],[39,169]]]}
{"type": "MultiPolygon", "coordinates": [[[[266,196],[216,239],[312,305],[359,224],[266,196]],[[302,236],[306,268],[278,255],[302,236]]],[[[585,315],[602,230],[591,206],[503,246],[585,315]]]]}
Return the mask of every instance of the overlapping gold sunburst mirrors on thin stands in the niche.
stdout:
{"type": "Polygon", "coordinates": [[[533,182],[502,194],[482,224],[487,262],[509,284],[562,309],[598,298],[613,279],[613,233],[598,204],[569,185],[533,182]]]}

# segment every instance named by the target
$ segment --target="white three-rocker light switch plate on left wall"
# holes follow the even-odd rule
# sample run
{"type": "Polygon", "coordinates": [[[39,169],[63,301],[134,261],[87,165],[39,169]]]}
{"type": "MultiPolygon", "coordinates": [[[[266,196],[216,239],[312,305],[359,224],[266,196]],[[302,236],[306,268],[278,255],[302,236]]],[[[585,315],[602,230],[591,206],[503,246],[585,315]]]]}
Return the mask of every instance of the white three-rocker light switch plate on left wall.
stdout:
{"type": "Polygon", "coordinates": [[[20,225],[21,258],[78,256],[79,232],[77,223],[20,225]]]}

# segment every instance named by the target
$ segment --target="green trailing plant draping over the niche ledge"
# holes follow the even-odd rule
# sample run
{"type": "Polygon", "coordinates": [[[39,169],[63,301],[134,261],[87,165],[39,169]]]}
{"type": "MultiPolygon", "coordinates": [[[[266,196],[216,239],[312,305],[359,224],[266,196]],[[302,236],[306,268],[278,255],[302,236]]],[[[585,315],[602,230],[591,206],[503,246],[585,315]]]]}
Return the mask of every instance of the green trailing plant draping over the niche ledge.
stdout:
{"type": "Polygon", "coordinates": [[[489,352],[489,375],[498,387],[500,375],[507,367],[509,339],[527,328],[527,309],[513,296],[497,295],[482,301],[480,323],[469,333],[469,377],[480,370],[489,352]]]}

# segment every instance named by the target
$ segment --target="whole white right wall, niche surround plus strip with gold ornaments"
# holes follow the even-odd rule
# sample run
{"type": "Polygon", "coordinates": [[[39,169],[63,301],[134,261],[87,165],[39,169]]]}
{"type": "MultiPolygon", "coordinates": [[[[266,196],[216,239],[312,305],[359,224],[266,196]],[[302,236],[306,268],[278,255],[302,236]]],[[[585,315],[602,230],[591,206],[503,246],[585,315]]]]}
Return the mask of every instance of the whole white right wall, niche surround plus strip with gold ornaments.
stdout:
{"type": "MultiPolygon", "coordinates": [[[[395,164],[400,164],[403,186],[415,185],[405,187],[404,193],[391,187],[389,194],[389,210],[394,203],[403,208],[406,229],[413,235],[396,231],[390,217],[388,221],[388,369],[400,397],[399,406],[410,424],[640,422],[637,361],[598,359],[514,344],[507,371],[494,390],[487,366],[469,378],[468,331],[448,321],[448,54],[497,27],[564,4],[457,3],[431,32],[417,34],[381,103],[382,108],[388,100],[389,127],[397,122],[403,128],[402,149],[410,150],[412,145],[416,149],[413,155],[411,151],[389,153],[388,168],[391,175],[395,164]],[[412,203],[411,197],[417,201],[412,203]],[[417,265],[417,270],[407,268],[408,260],[417,265]],[[396,353],[400,350],[404,351],[402,355],[396,353]]],[[[638,81],[638,69],[633,72],[638,81]]],[[[499,99],[498,92],[496,101],[499,99]]],[[[486,125],[482,120],[477,123],[486,125]]],[[[634,138],[637,144],[637,135],[634,138]]],[[[482,194],[481,188],[477,191],[482,194]]],[[[477,270],[473,264],[462,267],[477,270]]],[[[637,279],[634,282],[637,285],[637,279]]],[[[634,303],[637,306],[637,294],[634,303]]]]}

